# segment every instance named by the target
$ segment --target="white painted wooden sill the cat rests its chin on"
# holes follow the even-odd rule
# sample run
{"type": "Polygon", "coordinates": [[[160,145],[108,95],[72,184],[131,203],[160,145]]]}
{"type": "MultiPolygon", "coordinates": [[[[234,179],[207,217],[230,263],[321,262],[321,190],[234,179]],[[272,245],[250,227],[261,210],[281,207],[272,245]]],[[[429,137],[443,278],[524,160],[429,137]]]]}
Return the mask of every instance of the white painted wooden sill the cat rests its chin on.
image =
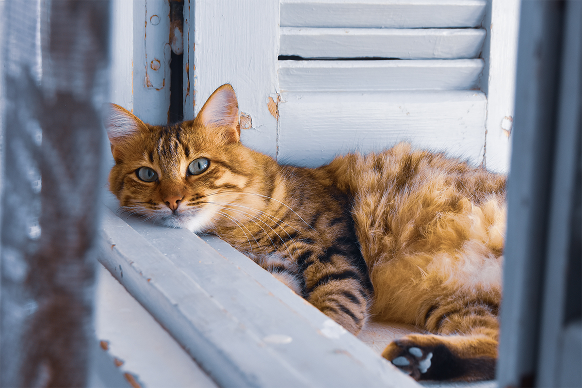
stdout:
{"type": "Polygon", "coordinates": [[[219,386],[419,386],[230,245],[107,202],[101,263],[219,386]]]}

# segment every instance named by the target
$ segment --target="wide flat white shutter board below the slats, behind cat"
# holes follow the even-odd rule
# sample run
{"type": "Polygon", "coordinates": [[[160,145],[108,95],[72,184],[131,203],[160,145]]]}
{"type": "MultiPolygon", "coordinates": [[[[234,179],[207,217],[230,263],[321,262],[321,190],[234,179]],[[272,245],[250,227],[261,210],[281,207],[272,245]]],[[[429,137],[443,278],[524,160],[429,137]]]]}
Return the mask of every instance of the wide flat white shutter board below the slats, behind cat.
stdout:
{"type": "Polygon", "coordinates": [[[285,92],[279,162],[319,166],[350,151],[400,141],[481,162],[487,99],[481,91],[285,92]]]}

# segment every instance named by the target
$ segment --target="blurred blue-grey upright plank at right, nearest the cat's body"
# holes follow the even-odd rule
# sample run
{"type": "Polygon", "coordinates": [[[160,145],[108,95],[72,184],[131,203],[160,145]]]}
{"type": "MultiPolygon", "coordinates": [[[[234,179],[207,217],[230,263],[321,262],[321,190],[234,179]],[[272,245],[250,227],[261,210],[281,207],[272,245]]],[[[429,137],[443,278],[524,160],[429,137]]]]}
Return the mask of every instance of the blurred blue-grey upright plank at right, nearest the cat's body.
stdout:
{"type": "MultiPolygon", "coordinates": [[[[536,385],[563,4],[521,3],[499,386],[536,385]],[[543,74],[543,76],[540,76],[543,74]]],[[[553,302],[553,301],[552,301],[553,302]]]]}

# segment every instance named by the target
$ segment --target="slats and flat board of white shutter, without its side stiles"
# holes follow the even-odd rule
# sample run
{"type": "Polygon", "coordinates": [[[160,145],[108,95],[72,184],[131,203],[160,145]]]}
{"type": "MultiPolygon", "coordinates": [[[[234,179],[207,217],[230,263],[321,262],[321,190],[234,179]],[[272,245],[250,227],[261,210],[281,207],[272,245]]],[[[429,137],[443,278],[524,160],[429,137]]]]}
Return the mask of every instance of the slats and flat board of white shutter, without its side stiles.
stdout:
{"type": "Polygon", "coordinates": [[[480,163],[486,10],[486,0],[282,0],[279,160],[317,166],[409,140],[480,163]]]}

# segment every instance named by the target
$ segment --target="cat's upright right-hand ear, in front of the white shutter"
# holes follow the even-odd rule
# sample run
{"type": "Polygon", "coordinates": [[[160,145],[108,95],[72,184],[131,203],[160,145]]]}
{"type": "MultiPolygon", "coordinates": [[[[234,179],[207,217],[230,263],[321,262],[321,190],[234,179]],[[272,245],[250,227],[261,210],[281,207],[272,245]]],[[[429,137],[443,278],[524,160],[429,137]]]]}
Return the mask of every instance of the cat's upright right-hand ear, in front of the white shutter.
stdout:
{"type": "Polygon", "coordinates": [[[228,143],[239,141],[239,103],[232,86],[224,84],[215,90],[200,109],[196,121],[204,127],[218,131],[228,143]]]}

